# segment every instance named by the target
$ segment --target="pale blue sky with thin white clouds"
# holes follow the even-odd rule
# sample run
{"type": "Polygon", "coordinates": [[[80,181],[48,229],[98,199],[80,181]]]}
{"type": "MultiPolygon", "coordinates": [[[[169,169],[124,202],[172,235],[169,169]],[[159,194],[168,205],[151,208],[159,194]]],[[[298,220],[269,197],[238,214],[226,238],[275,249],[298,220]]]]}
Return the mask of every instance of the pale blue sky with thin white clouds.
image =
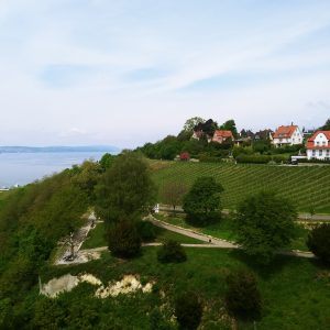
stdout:
{"type": "Polygon", "coordinates": [[[330,118],[330,1],[0,0],[0,145],[330,118]]]}

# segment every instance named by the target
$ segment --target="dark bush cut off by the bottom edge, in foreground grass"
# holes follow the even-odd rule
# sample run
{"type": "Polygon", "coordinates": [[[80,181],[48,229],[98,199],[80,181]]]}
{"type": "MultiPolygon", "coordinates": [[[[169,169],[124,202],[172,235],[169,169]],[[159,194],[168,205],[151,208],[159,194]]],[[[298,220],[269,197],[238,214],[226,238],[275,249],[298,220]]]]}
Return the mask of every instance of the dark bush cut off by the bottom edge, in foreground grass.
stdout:
{"type": "Polygon", "coordinates": [[[195,293],[185,293],[175,300],[175,316],[179,323],[179,329],[197,329],[201,316],[202,304],[195,293]]]}

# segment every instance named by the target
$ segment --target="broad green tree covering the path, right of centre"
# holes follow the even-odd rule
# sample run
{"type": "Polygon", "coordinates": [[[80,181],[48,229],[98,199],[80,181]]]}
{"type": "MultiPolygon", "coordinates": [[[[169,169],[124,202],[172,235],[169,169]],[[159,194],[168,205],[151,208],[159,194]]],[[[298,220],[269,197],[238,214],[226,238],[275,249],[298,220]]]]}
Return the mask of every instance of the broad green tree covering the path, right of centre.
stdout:
{"type": "Polygon", "coordinates": [[[293,204],[270,191],[249,196],[238,208],[238,243],[262,263],[270,263],[275,252],[295,238],[297,211],[293,204]]]}

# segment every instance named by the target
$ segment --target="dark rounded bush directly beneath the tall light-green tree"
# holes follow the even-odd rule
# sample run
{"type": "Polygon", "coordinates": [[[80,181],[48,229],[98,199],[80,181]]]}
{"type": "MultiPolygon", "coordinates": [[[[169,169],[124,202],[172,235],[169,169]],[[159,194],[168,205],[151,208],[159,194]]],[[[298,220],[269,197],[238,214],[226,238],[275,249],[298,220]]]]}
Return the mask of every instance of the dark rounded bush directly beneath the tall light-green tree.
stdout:
{"type": "Polygon", "coordinates": [[[132,222],[121,221],[108,230],[108,246],[112,255],[133,257],[140,254],[141,239],[132,222]]]}

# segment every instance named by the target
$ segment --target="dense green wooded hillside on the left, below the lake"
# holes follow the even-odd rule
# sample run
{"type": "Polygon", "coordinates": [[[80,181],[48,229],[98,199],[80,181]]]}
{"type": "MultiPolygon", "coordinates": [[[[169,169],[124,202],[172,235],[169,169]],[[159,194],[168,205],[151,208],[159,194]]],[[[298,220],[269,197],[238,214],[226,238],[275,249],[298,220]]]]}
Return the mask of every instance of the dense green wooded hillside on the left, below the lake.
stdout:
{"type": "MultiPolygon", "coordinates": [[[[96,165],[97,166],[97,165],[96,165]]],[[[22,301],[61,238],[82,224],[92,200],[90,162],[12,191],[0,209],[0,328],[21,319],[22,301]]],[[[8,327],[7,327],[8,326],[8,327]]]]}

